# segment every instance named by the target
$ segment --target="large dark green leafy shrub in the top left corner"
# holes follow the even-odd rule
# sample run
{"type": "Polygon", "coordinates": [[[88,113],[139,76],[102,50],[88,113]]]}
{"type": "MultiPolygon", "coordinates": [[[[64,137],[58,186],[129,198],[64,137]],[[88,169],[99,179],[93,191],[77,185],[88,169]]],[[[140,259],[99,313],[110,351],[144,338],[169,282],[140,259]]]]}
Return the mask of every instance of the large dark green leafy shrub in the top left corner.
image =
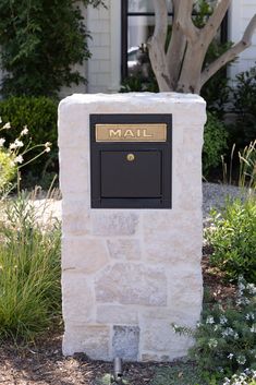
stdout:
{"type": "MultiPolygon", "coordinates": [[[[100,0],[82,0],[98,5],[100,0]]],[[[4,96],[57,96],[85,79],[74,69],[90,56],[82,10],[73,0],[0,2],[4,96]]]]}

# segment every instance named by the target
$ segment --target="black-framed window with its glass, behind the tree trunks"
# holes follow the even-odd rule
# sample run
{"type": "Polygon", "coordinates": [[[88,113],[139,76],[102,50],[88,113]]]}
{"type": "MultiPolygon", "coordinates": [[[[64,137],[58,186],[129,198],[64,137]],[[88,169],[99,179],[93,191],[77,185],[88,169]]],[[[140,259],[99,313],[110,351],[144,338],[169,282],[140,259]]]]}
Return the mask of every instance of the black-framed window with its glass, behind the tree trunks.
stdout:
{"type": "MultiPolygon", "coordinates": [[[[153,0],[122,1],[122,80],[132,75],[145,58],[146,41],[154,32],[153,0]]],[[[168,1],[169,24],[173,17],[172,1],[168,1]]],[[[220,41],[227,41],[228,15],[219,32],[220,41]]]]}

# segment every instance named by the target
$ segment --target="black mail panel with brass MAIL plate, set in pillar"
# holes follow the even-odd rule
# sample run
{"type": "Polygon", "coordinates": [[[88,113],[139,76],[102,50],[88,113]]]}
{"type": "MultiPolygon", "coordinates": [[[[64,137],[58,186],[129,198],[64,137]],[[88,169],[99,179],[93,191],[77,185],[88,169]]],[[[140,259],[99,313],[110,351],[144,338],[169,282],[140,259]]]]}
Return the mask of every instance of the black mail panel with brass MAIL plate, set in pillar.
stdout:
{"type": "Polygon", "coordinates": [[[171,208],[171,115],[90,115],[93,208],[171,208]]]}

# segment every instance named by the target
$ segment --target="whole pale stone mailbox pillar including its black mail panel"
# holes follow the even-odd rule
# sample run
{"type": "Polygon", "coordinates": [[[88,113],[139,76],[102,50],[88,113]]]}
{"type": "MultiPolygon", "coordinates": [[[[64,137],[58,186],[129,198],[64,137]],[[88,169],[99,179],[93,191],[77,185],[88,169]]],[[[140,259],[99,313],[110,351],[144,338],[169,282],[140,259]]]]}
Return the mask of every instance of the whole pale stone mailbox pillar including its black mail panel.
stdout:
{"type": "Polygon", "coordinates": [[[205,107],[199,96],[174,93],[73,95],[60,103],[64,354],[126,361],[186,354],[192,340],[171,323],[194,327],[202,310],[205,107]],[[150,117],[163,130],[155,142],[160,129],[150,117]],[[110,129],[113,141],[105,147],[110,129]]]}

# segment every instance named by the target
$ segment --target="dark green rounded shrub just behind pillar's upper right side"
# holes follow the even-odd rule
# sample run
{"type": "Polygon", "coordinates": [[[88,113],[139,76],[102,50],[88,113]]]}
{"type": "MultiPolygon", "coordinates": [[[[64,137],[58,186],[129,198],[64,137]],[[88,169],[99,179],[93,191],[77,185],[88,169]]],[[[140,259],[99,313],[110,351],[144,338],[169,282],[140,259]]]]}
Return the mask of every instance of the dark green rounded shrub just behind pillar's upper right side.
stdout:
{"type": "Polygon", "coordinates": [[[204,130],[203,147],[203,173],[205,177],[210,169],[221,163],[221,155],[228,147],[228,132],[224,124],[214,115],[207,113],[207,122],[204,130]]]}

